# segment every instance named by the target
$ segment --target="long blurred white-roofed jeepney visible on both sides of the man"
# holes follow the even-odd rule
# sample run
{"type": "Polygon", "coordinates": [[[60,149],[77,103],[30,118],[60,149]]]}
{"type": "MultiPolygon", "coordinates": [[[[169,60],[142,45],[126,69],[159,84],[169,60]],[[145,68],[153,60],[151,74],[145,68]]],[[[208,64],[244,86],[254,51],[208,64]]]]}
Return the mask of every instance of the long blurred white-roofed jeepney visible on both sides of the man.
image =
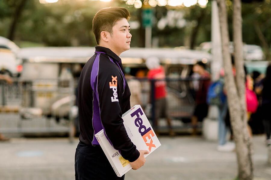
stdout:
{"type": "MultiPolygon", "coordinates": [[[[57,120],[68,118],[71,106],[75,103],[74,90],[77,84],[73,80],[79,77],[81,68],[94,51],[95,47],[22,48],[20,57],[23,59],[23,72],[20,80],[24,88],[21,116],[46,115],[57,120]]],[[[182,48],[131,48],[123,52],[120,58],[124,68],[130,68],[133,72],[147,72],[145,60],[153,56],[160,59],[166,71],[171,116],[189,117],[194,99],[190,91],[192,81],[188,76],[195,62],[209,63],[211,55],[182,48]]],[[[147,107],[150,85],[147,78],[141,78],[140,81],[142,107],[147,107]]]]}

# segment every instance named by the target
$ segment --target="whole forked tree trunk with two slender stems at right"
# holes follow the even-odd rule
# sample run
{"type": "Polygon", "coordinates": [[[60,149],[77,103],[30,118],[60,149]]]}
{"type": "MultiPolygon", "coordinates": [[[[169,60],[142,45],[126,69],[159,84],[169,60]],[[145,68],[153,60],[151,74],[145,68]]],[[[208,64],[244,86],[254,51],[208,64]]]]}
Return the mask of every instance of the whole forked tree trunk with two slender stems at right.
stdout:
{"type": "Polygon", "coordinates": [[[232,73],[231,57],[229,53],[229,32],[227,22],[227,8],[225,0],[216,0],[219,8],[220,31],[222,41],[223,66],[225,70],[225,86],[229,105],[231,125],[236,143],[238,162],[238,177],[240,180],[253,179],[251,160],[251,140],[247,129],[245,104],[245,73],[243,66],[242,31],[241,31],[241,1],[234,0],[234,44],[236,83],[232,73]]]}

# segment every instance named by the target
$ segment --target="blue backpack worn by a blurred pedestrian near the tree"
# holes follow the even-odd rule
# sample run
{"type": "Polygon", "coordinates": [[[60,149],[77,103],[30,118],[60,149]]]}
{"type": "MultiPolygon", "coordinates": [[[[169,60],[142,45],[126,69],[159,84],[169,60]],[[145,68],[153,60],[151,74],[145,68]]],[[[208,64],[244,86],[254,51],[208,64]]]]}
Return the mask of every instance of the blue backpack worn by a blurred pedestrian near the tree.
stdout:
{"type": "Polygon", "coordinates": [[[207,91],[207,104],[222,105],[226,100],[226,95],[223,92],[224,83],[222,80],[211,82],[207,91]]]}

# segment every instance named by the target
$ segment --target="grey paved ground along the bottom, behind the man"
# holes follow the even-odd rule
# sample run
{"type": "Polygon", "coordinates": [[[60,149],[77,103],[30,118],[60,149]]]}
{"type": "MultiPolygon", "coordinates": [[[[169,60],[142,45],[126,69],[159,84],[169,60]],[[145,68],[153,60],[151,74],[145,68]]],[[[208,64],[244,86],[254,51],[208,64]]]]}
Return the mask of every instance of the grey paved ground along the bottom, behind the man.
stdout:
{"type": "MultiPolygon", "coordinates": [[[[216,151],[216,142],[201,137],[160,136],[160,146],[126,180],[232,180],[237,175],[235,152],[216,151]]],[[[254,136],[255,180],[270,180],[264,136],[254,136]]],[[[73,180],[78,143],[68,138],[14,138],[0,143],[0,179],[73,180]]]]}

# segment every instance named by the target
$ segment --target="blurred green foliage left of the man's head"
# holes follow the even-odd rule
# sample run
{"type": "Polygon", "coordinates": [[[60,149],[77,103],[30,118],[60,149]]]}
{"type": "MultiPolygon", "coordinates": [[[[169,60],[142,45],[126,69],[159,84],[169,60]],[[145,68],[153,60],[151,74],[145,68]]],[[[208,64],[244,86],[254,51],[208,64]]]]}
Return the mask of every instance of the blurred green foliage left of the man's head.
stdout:
{"type": "MultiPolygon", "coordinates": [[[[7,36],[19,0],[0,1],[0,36],[7,36]]],[[[95,46],[92,19],[101,8],[120,6],[120,2],[65,1],[40,4],[28,0],[20,17],[16,40],[44,43],[47,46],[95,46]]]]}

